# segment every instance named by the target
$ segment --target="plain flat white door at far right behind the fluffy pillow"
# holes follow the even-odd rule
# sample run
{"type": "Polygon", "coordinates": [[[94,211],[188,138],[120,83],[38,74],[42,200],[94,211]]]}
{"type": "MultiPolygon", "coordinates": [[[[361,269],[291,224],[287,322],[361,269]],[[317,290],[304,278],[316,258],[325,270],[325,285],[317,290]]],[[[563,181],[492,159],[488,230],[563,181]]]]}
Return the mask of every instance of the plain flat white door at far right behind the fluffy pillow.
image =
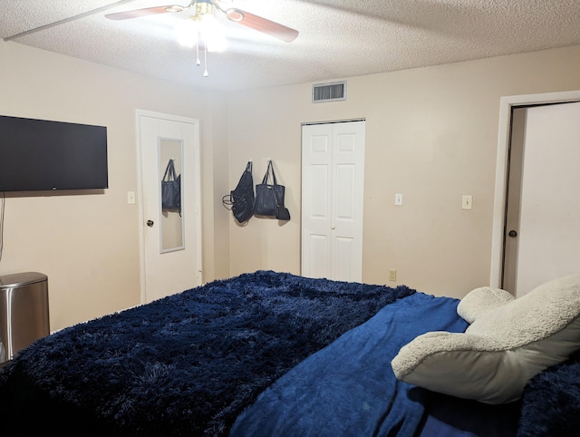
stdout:
{"type": "Polygon", "coordinates": [[[516,296],[580,274],[580,102],[527,109],[516,296]]]}

